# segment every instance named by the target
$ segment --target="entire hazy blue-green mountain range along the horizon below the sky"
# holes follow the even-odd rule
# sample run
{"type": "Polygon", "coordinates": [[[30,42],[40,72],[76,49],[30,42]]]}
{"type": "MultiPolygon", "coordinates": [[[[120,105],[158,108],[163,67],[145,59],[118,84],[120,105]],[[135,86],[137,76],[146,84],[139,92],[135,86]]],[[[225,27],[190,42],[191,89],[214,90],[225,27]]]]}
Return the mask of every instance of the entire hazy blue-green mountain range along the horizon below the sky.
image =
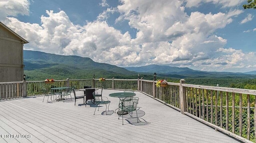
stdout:
{"type": "Polygon", "coordinates": [[[186,77],[248,77],[256,76],[256,71],[246,73],[209,72],[178,68],[171,66],[148,65],[141,67],[118,67],[105,63],[94,62],[90,58],[80,56],[62,56],[45,52],[24,50],[24,73],[29,80],[54,79],[85,79],[92,78],[132,78],[136,79],[138,73],[144,79],[152,79],[154,72],[160,77],[186,78],[186,77]],[[255,75],[255,76],[254,76],[255,75]]]}

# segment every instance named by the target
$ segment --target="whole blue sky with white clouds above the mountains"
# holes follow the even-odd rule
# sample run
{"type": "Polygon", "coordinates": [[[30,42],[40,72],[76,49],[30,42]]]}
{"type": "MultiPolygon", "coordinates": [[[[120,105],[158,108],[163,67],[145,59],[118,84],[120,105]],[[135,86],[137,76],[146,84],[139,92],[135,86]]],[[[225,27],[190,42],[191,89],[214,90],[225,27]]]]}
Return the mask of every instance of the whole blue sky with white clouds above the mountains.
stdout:
{"type": "Polygon", "coordinates": [[[24,50],[120,67],[256,70],[256,10],[246,0],[0,0],[24,50]]]}

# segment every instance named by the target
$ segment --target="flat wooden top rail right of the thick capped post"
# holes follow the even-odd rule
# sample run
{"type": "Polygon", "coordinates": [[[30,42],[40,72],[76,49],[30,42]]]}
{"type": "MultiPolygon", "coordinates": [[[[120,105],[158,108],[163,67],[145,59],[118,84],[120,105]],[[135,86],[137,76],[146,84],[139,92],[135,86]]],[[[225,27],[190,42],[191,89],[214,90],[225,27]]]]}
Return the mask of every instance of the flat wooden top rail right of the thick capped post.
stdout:
{"type": "Polygon", "coordinates": [[[252,90],[252,89],[240,89],[240,88],[206,86],[206,85],[194,85],[194,84],[182,84],[182,86],[184,86],[184,87],[193,87],[193,88],[202,88],[202,89],[210,89],[210,90],[218,90],[218,91],[226,91],[226,92],[234,92],[234,93],[256,95],[256,90],[252,90]]]}

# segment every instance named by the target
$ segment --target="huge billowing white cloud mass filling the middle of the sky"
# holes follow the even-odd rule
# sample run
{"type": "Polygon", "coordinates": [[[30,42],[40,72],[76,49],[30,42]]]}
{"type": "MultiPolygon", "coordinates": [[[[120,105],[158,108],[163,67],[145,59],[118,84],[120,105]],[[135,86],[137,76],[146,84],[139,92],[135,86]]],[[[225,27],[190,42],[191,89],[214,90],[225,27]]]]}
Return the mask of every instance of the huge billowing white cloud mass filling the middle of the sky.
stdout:
{"type": "MultiPolygon", "coordinates": [[[[230,4],[230,1],[224,1],[224,4],[230,4]]],[[[64,11],[54,13],[52,10],[46,10],[47,16],[41,16],[41,25],[20,22],[16,18],[8,18],[5,24],[30,42],[24,45],[26,50],[78,55],[116,66],[164,64],[232,71],[232,67],[255,65],[250,64],[250,60],[256,61],[255,53],[225,49],[227,40],[215,34],[242,10],[215,14],[191,12],[188,16],[180,0],[120,2],[118,7],[107,8],[97,20],[82,26],[74,25],[64,11]],[[114,12],[120,12],[116,22],[128,21],[137,30],[136,38],[132,39],[129,32],[123,34],[108,25],[105,20],[114,12]]],[[[221,3],[217,0],[207,2],[221,3]]]]}

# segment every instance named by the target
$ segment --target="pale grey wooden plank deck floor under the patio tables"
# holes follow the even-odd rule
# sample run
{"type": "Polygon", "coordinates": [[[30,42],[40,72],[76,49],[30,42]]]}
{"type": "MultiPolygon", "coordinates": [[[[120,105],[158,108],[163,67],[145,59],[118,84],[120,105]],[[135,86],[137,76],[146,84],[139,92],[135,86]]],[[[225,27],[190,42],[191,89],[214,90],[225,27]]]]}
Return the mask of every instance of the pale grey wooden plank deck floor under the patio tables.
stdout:
{"type": "MultiPolygon", "coordinates": [[[[110,93],[123,92],[103,90],[103,96],[111,101],[108,113],[119,103],[110,93]]],[[[95,115],[92,103],[85,106],[78,99],[66,102],[42,102],[43,96],[0,101],[0,143],[236,143],[235,139],[215,131],[140,92],[138,111],[140,123],[131,123],[118,115],[102,115],[100,107],[95,115]],[[144,121],[144,120],[145,121],[144,121]],[[28,138],[6,135],[29,135],[28,138]]],[[[83,91],[76,91],[82,95],[83,91]]],[[[73,95],[73,93],[72,93],[73,95]]],[[[73,95],[74,97],[74,95],[73,95]]]]}

